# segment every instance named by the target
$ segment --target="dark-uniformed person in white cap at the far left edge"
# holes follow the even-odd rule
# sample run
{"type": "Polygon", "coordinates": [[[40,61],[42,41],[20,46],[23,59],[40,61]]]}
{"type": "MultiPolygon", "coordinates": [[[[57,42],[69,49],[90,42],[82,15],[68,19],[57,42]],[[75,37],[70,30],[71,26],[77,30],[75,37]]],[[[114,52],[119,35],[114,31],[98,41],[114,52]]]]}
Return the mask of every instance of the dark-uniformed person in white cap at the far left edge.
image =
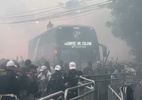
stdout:
{"type": "MultiPolygon", "coordinates": [[[[0,94],[14,94],[19,97],[20,84],[17,66],[11,60],[6,64],[5,71],[0,73],[0,94]]],[[[10,96],[3,96],[1,100],[15,100],[10,96]]]]}

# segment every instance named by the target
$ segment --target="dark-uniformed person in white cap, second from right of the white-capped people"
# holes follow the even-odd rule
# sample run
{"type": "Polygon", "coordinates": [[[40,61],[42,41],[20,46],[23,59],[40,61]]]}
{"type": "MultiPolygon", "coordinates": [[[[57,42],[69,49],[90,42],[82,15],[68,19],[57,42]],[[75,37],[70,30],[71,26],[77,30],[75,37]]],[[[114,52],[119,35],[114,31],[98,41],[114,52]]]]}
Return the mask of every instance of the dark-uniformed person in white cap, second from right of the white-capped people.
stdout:
{"type": "MultiPolygon", "coordinates": [[[[64,77],[61,72],[61,66],[55,66],[55,73],[51,75],[51,79],[47,85],[47,94],[52,94],[64,90],[64,77]]],[[[54,98],[55,100],[57,97],[54,98]]]]}

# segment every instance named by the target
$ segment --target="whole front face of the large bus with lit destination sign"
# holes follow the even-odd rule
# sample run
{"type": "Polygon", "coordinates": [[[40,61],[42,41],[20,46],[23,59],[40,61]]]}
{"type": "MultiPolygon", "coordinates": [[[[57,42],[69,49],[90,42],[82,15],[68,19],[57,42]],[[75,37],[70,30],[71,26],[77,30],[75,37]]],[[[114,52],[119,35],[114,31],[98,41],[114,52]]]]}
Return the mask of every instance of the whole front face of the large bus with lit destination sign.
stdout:
{"type": "Polygon", "coordinates": [[[88,26],[60,26],[57,32],[57,60],[76,62],[82,66],[100,59],[99,44],[94,28],[88,26]]]}

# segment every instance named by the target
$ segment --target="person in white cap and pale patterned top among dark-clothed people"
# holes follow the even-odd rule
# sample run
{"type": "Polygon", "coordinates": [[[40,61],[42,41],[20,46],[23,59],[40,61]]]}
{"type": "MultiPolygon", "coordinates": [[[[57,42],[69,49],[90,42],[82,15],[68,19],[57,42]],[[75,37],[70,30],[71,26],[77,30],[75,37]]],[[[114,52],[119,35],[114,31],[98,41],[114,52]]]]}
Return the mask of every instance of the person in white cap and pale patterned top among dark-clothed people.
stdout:
{"type": "Polygon", "coordinates": [[[48,81],[50,80],[51,72],[47,70],[46,66],[41,66],[40,74],[38,75],[38,83],[39,83],[39,91],[41,93],[41,97],[46,95],[46,87],[48,81]]]}

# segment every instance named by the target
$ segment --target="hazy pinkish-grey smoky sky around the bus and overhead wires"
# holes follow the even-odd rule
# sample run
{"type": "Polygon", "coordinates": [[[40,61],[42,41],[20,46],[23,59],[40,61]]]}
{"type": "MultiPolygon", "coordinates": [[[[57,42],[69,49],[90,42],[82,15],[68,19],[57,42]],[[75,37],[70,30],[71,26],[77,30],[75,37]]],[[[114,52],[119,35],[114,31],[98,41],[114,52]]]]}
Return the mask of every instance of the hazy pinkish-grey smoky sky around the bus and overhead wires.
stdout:
{"type": "MultiPolygon", "coordinates": [[[[50,8],[65,0],[0,0],[0,18],[21,14],[29,11],[50,8]]],[[[84,0],[85,1],[85,0],[84,0]]],[[[86,0],[87,2],[99,2],[100,0],[86,0]]],[[[61,24],[84,24],[95,28],[99,42],[106,45],[111,51],[110,59],[117,57],[123,60],[131,60],[129,55],[130,47],[115,38],[110,29],[106,27],[106,22],[111,19],[110,10],[107,8],[95,10],[85,15],[71,17],[69,19],[51,20],[54,25],[61,24]]],[[[0,20],[1,21],[1,20],[0,20]]],[[[0,58],[16,58],[23,56],[27,58],[28,41],[33,37],[46,31],[47,20],[42,20],[20,24],[0,24],[0,58]]]]}

